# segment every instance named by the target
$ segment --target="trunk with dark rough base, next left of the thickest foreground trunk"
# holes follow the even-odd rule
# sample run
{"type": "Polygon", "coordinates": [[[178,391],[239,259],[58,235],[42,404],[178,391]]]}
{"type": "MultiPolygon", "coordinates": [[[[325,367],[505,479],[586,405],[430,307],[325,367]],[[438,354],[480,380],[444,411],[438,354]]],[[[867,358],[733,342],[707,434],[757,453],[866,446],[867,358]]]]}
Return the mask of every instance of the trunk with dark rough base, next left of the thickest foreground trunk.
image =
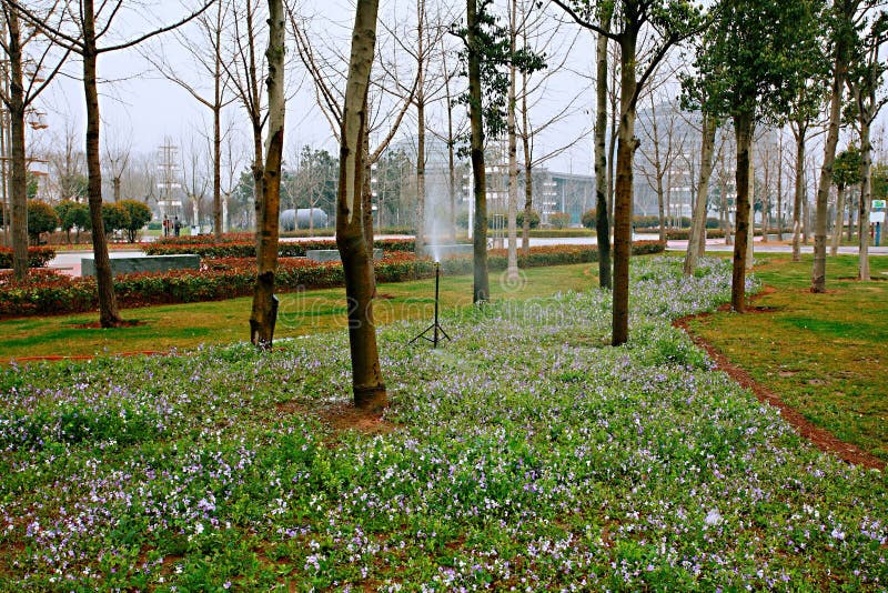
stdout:
{"type": "Polygon", "coordinates": [[[269,0],[269,138],[262,171],[262,227],[256,252],[256,283],[250,315],[250,341],[270,349],[274,340],[274,274],[278,269],[278,220],[281,203],[281,161],[284,145],[284,10],[283,0],[269,0]]]}

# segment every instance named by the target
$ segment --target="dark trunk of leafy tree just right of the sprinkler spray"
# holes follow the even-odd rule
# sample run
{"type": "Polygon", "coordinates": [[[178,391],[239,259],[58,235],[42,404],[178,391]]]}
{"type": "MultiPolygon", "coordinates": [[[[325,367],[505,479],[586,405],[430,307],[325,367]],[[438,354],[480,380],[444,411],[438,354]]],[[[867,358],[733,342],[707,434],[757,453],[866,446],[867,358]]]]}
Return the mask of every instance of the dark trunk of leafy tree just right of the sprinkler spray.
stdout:
{"type": "Polygon", "coordinates": [[[491,298],[487,274],[487,184],[484,173],[484,122],[482,120],[481,60],[484,49],[477,39],[477,0],[466,0],[466,44],[468,47],[468,120],[472,129],[472,181],[475,193],[474,281],[472,302],[491,298]]]}

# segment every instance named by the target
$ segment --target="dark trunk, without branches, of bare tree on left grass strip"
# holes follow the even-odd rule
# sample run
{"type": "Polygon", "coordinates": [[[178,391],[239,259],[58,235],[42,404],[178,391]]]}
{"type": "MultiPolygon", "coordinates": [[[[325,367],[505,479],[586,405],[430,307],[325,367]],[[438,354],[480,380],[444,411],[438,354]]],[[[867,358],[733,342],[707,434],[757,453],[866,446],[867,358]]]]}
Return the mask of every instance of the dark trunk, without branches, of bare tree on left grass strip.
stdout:
{"type": "Polygon", "coordinates": [[[102,223],[102,167],[99,158],[99,89],[95,80],[95,12],[92,0],[83,0],[83,92],[87,101],[87,194],[92,223],[92,252],[95,259],[95,284],[99,292],[99,323],[102,328],[120,325],[114,279],[102,223]]]}

